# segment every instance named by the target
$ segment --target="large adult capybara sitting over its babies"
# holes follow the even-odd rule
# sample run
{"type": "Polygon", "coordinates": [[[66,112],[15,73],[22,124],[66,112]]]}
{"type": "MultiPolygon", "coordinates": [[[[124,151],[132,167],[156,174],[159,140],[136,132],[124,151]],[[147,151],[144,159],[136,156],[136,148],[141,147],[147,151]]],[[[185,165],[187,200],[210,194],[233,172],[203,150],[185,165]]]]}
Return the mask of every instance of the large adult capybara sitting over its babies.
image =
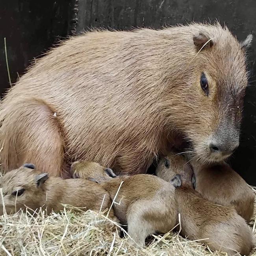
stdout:
{"type": "Polygon", "coordinates": [[[2,101],[2,167],[59,176],[85,159],[143,173],[177,134],[198,160],[223,160],[239,144],[251,39],[219,24],[72,37],[2,101]]]}

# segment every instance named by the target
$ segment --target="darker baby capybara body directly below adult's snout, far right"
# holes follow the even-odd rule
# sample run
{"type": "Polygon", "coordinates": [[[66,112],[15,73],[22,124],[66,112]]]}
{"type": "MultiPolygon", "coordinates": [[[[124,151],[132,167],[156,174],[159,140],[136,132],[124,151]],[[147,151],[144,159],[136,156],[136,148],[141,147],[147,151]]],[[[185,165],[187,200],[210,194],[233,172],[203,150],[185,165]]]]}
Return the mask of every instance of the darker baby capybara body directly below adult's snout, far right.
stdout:
{"type": "Polygon", "coordinates": [[[196,191],[215,204],[233,205],[246,221],[254,210],[255,195],[243,178],[227,163],[201,165],[190,161],[197,179],[196,191]]]}

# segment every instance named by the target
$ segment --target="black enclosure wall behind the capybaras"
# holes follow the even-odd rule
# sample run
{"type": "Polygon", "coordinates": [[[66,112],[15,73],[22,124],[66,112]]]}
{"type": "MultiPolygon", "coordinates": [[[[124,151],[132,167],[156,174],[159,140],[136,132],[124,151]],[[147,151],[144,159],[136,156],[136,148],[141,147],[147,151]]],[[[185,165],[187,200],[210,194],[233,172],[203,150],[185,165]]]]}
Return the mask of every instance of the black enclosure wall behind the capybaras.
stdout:
{"type": "MultiPolygon", "coordinates": [[[[239,40],[255,37],[254,0],[9,0],[0,2],[0,89],[9,87],[4,37],[12,82],[22,75],[30,60],[59,39],[91,27],[128,30],[133,27],[161,28],[191,21],[219,20],[239,40]]],[[[230,158],[234,169],[256,185],[256,38],[249,56],[250,85],[245,98],[241,145],[230,158]]]]}

